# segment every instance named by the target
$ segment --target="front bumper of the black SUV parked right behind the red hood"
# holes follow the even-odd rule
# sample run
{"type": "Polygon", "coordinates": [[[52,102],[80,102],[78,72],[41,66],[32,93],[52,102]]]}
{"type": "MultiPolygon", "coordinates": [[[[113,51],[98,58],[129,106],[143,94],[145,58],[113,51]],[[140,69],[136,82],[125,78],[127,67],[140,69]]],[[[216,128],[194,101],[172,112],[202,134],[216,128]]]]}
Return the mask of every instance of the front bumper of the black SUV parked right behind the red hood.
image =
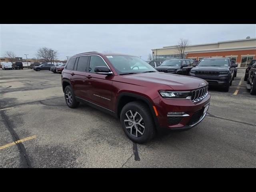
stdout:
{"type": "Polygon", "coordinates": [[[227,83],[229,83],[229,80],[230,80],[230,74],[208,76],[208,75],[195,75],[193,73],[190,73],[189,76],[204,79],[210,85],[220,85],[220,86],[225,86],[227,83]]]}

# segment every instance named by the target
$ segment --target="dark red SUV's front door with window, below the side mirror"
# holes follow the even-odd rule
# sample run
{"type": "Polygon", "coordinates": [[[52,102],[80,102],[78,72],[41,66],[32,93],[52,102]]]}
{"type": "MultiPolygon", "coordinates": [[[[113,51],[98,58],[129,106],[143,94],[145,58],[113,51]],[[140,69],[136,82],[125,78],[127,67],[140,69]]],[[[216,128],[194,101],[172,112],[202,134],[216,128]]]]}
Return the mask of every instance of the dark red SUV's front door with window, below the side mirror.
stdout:
{"type": "Polygon", "coordinates": [[[90,56],[89,67],[86,77],[86,96],[88,100],[96,105],[102,106],[109,110],[114,110],[112,105],[112,79],[114,75],[97,74],[94,72],[96,66],[107,66],[101,56],[90,56]]]}

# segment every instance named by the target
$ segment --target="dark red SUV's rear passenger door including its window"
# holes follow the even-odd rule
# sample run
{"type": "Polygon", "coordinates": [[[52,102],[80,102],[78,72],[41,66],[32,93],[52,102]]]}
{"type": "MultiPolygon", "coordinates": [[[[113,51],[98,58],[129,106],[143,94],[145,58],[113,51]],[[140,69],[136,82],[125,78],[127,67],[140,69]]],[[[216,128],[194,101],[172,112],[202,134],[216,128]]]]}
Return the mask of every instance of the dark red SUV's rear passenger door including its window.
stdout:
{"type": "Polygon", "coordinates": [[[86,84],[88,84],[88,78],[86,77],[86,70],[88,68],[90,56],[80,56],[76,59],[73,70],[73,90],[74,94],[82,99],[88,100],[86,84]]]}

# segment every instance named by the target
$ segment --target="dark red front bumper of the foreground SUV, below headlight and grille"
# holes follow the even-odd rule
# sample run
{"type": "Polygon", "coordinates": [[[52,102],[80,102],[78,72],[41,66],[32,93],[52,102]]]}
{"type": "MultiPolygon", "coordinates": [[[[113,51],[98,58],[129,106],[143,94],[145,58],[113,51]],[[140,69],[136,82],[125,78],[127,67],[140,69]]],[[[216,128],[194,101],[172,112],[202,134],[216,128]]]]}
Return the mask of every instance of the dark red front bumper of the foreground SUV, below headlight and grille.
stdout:
{"type": "Polygon", "coordinates": [[[158,112],[158,126],[170,130],[188,129],[199,124],[206,116],[204,108],[210,104],[210,94],[193,103],[190,99],[154,99],[158,112]],[[168,112],[185,112],[186,116],[168,116],[168,112]]]}

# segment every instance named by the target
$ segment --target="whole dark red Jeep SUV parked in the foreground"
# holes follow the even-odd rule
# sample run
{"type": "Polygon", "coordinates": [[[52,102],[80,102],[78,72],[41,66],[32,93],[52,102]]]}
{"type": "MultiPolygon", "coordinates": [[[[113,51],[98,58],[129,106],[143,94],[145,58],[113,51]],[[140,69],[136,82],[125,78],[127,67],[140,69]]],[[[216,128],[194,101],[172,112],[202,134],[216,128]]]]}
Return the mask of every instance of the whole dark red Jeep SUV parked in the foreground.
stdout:
{"type": "Polygon", "coordinates": [[[205,80],[158,72],[137,56],[77,54],[68,60],[61,80],[70,108],[85,102],[120,118],[126,135],[138,143],[162,128],[196,126],[210,104],[205,80]]]}

